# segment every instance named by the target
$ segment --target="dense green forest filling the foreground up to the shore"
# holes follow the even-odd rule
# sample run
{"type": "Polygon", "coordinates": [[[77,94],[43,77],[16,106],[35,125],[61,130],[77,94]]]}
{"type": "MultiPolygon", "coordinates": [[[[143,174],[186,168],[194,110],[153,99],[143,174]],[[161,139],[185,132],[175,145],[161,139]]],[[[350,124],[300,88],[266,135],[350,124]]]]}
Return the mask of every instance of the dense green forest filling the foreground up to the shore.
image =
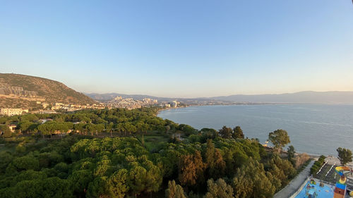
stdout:
{"type": "Polygon", "coordinates": [[[265,198],[297,174],[293,154],[265,149],[239,126],[196,130],[157,111],[0,118],[0,197],[265,198]]]}

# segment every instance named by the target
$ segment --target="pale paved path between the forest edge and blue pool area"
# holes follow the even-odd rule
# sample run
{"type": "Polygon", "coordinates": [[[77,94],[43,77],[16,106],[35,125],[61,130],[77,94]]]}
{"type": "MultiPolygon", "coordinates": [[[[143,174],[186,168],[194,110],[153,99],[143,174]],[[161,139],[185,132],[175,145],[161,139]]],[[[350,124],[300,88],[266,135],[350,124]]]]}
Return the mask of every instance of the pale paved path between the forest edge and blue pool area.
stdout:
{"type": "Polygon", "coordinates": [[[313,166],[315,161],[311,161],[306,168],[297,175],[289,184],[284,187],[280,192],[277,192],[273,198],[288,198],[294,192],[297,192],[298,188],[303,184],[303,182],[308,178],[310,174],[310,168],[313,166]]]}

